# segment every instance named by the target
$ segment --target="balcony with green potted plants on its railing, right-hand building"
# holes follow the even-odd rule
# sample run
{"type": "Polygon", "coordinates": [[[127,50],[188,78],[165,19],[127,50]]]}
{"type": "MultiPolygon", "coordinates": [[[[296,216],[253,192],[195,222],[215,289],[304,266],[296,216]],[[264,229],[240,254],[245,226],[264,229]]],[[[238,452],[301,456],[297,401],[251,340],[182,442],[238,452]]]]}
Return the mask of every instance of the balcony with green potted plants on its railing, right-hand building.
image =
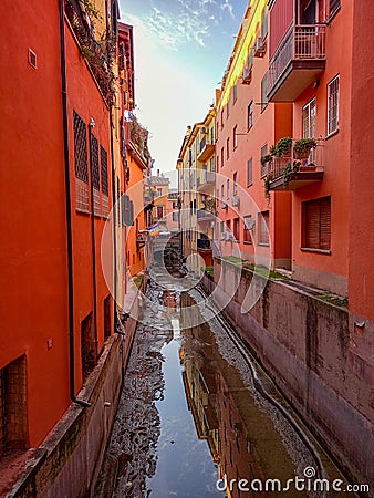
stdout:
{"type": "Polygon", "coordinates": [[[297,190],[323,180],[323,146],[318,145],[308,158],[273,157],[267,165],[269,190],[297,190]]]}

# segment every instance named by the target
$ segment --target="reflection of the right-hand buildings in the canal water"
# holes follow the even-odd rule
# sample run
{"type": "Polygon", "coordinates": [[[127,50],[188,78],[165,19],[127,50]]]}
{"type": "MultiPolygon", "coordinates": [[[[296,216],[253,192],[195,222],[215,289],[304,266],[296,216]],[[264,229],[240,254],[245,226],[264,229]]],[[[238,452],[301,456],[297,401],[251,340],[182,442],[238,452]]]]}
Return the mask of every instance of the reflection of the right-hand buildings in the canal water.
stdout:
{"type": "MultiPolygon", "coordinates": [[[[207,439],[214,461],[219,464],[219,477],[230,479],[263,479],[263,471],[256,447],[248,436],[241,413],[248,408],[247,396],[233,393],[246,391],[242,383],[231,377],[232,369],[220,356],[214,334],[207,323],[197,322],[190,307],[195,301],[181,295],[183,349],[179,353],[184,364],[184,385],[189,408],[200,439],[207,439]],[[238,404],[238,400],[242,403],[238,404]]],[[[196,308],[195,308],[196,309],[196,308]]],[[[248,425],[248,421],[246,421],[248,425]]],[[[252,430],[256,427],[252,427],[252,430]]],[[[254,496],[240,492],[233,486],[229,497],[254,496]]],[[[256,497],[266,496],[256,492],[256,497]]]]}

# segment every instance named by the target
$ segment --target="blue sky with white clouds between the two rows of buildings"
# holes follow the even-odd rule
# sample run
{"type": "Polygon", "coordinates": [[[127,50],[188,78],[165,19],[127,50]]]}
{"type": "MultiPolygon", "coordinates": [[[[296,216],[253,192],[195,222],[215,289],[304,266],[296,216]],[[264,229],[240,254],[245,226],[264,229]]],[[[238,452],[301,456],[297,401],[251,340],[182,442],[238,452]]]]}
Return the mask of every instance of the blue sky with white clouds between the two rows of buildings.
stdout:
{"type": "Polygon", "coordinates": [[[134,27],[136,115],[155,170],[175,169],[187,128],[214,102],[248,1],[120,0],[134,27]]]}

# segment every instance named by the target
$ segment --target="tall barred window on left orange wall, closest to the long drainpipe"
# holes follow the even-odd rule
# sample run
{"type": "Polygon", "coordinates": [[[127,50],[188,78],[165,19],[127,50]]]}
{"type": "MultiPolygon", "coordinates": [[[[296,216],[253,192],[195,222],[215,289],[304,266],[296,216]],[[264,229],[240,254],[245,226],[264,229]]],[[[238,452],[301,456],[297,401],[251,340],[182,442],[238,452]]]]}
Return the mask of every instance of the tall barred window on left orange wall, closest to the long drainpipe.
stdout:
{"type": "Polygon", "coordinates": [[[74,162],[75,162],[75,206],[89,211],[89,164],[87,131],[84,121],[73,111],[74,162]]]}

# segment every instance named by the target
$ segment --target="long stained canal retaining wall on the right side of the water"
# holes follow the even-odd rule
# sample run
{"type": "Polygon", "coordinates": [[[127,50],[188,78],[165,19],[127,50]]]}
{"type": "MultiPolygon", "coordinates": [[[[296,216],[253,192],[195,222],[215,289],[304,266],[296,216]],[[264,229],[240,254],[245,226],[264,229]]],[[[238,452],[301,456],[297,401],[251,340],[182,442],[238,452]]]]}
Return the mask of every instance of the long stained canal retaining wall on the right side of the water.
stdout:
{"type": "Polygon", "coordinates": [[[374,365],[357,354],[349,312],[280,280],[269,280],[242,312],[252,279],[262,277],[219,258],[214,264],[215,280],[202,279],[208,294],[218,305],[229,300],[225,317],[285,397],[352,478],[373,490],[374,365]]]}

